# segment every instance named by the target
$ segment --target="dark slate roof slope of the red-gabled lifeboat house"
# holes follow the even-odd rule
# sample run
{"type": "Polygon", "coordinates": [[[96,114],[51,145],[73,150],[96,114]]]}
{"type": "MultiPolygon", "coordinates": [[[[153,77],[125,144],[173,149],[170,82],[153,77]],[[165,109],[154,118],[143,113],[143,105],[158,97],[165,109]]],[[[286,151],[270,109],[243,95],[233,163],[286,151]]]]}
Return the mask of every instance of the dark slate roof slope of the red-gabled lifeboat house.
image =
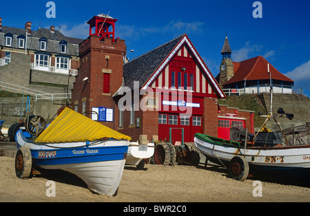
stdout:
{"type": "Polygon", "coordinates": [[[139,87],[142,87],[149,76],[151,76],[156,68],[163,63],[165,58],[170,52],[172,52],[174,47],[184,35],[185,34],[182,34],[176,39],[173,39],[172,41],[156,47],[154,50],[151,50],[128,63],[125,63],[123,65],[124,85],[130,87],[130,89],[134,89],[134,81],[138,80],[140,82],[139,87]]]}

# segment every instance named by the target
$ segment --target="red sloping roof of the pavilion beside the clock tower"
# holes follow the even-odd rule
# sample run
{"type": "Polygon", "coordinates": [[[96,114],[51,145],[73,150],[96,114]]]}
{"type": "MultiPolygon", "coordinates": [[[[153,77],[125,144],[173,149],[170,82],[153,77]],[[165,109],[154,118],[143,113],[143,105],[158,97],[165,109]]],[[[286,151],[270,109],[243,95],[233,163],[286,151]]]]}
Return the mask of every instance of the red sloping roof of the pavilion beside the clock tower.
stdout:
{"type": "MultiPolygon", "coordinates": [[[[240,63],[234,63],[234,76],[231,77],[224,85],[237,83],[239,81],[247,80],[269,80],[268,61],[262,56],[249,58],[240,63]]],[[[281,74],[276,67],[269,63],[269,71],[271,72],[271,79],[282,80],[293,83],[293,80],[281,74]]]]}

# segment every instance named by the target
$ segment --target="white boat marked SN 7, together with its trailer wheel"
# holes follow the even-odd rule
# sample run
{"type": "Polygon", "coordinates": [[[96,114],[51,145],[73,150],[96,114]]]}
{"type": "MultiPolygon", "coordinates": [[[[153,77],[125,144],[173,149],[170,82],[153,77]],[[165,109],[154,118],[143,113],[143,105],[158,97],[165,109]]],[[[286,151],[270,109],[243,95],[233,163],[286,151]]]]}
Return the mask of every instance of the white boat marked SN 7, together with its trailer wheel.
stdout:
{"type": "Polygon", "coordinates": [[[260,171],[310,172],[310,144],[259,147],[196,133],[196,147],[207,160],[225,166],[236,180],[245,180],[249,169],[260,171]]]}

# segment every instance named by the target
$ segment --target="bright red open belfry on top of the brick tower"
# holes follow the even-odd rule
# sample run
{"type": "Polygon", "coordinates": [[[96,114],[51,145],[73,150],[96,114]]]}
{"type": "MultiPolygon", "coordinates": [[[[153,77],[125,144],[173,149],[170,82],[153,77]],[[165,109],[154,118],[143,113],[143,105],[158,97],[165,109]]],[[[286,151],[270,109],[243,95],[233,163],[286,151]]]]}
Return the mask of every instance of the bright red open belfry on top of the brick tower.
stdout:
{"type": "Polygon", "coordinates": [[[100,41],[102,41],[103,38],[112,38],[112,43],[114,43],[116,21],[117,19],[113,19],[106,14],[98,14],[97,16],[92,17],[92,19],[87,22],[87,24],[90,25],[90,35],[100,36],[100,41]]]}

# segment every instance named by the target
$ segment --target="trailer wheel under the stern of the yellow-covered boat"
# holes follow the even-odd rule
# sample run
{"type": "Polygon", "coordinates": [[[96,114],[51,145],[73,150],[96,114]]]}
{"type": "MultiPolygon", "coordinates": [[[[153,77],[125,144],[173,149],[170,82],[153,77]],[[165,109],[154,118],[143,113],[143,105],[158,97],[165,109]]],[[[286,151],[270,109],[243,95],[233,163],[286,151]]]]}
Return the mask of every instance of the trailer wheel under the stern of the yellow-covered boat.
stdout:
{"type": "Polygon", "coordinates": [[[28,147],[20,147],[15,157],[15,173],[21,179],[29,178],[32,171],[32,157],[28,147]]]}

